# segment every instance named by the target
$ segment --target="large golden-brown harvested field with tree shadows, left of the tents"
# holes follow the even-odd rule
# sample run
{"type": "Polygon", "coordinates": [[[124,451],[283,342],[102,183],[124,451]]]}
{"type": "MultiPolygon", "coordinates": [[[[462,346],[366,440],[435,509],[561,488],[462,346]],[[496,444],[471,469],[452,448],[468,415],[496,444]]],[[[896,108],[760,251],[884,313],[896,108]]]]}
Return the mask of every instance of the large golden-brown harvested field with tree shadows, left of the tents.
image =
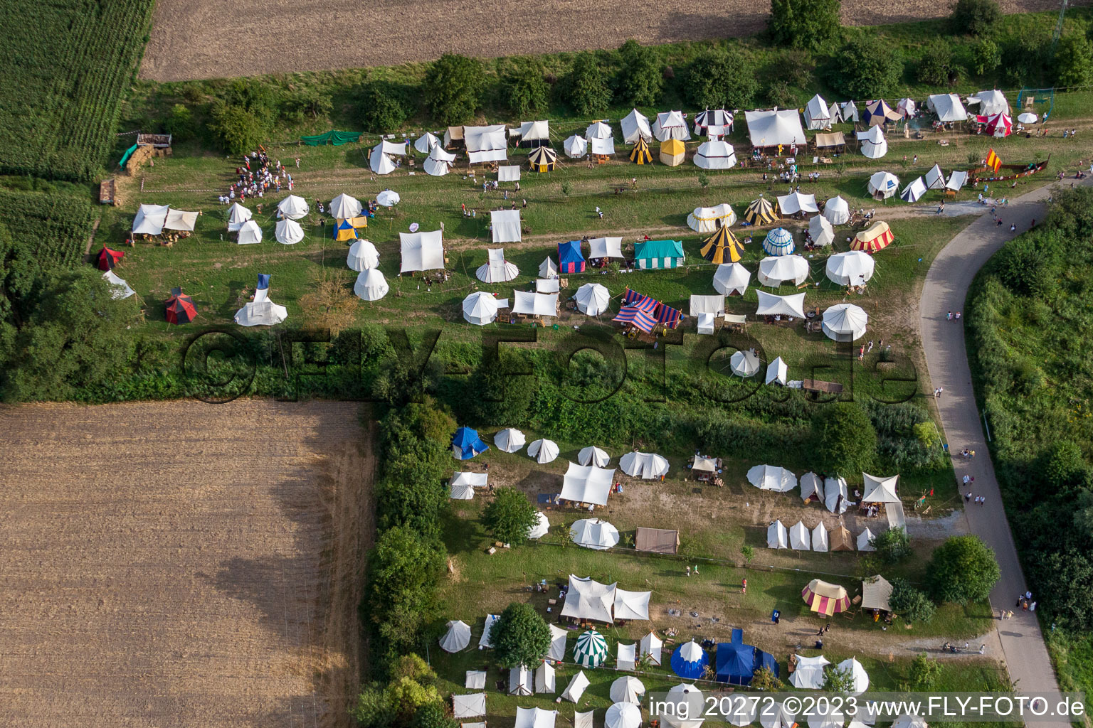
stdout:
{"type": "Polygon", "coordinates": [[[361,405],[0,409],[0,725],[349,724],[361,405]]]}

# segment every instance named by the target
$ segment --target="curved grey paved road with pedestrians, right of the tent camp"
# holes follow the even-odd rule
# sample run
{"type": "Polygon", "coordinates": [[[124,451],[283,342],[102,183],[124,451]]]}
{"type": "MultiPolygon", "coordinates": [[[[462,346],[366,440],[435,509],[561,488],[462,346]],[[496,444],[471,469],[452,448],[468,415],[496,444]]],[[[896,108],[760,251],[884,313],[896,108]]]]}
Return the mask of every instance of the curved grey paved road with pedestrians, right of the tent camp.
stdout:
{"type": "MultiPolygon", "coordinates": [[[[985,496],[986,503],[969,503],[965,509],[968,528],[995,549],[1001,568],[1001,580],[990,593],[996,613],[1013,609],[1019,594],[1027,589],[1013,545],[1013,534],[1006,520],[995,468],[984,438],[983,420],[976,407],[972,375],[964,347],[963,321],[948,320],[948,312],[963,311],[967,289],[975,274],[1002,244],[1016,232],[1029,229],[1033,219],[1043,219],[1045,203],[1054,186],[1045,187],[1010,201],[999,211],[1003,220],[998,227],[989,214],[972,223],[953,238],[938,254],[926,275],[919,302],[919,329],[929,368],[932,391],[942,387],[938,409],[950,449],[959,453],[964,447],[976,452],[965,461],[953,457],[961,492],[985,496]],[[1010,232],[1016,224],[1018,231],[1010,232]],[[963,486],[964,475],[975,478],[971,488],[963,486]]],[[[989,212],[989,208],[986,208],[989,212]]],[[[989,425],[989,423],[988,423],[989,425]]],[[[1036,595],[1033,595],[1036,598],[1036,595]]],[[[1031,612],[1016,609],[1012,620],[996,621],[996,629],[1009,667],[1010,678],[1022,691],[1055,691],[1058,683],[1048,658],[1039,624],[1031,612]]],[[[1066,723],[1038,723],[1065,726],[1066,723]]]]}

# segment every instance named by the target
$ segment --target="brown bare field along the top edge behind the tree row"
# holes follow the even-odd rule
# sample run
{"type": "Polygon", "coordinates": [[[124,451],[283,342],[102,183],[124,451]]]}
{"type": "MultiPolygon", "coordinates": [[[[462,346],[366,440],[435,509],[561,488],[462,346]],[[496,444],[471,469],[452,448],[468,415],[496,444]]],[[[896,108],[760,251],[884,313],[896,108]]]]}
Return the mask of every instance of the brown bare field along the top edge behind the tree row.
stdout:
{"type": "MultiPolygon", "coordinates": [[[[1072,3],[1076,4],[1076,3],[1072,3]]],[[[1077,4],[1086,4],[1081,0],[1077,4]]],[[[1006,12],[1056,10],[1055,0],[1001,0],[1006,12]]],[[[186,81],[427,61],[443,52],[495,57],[751,35],[769,4],[685,0],[587,3],[536,0],[163,0],[140,75],[186,81]],[[377,24],[383,29],[377,32],[377,24]]],[[[846,0],[843,22],[879,25],[949,14],[947,2],[846,0]]]]}

